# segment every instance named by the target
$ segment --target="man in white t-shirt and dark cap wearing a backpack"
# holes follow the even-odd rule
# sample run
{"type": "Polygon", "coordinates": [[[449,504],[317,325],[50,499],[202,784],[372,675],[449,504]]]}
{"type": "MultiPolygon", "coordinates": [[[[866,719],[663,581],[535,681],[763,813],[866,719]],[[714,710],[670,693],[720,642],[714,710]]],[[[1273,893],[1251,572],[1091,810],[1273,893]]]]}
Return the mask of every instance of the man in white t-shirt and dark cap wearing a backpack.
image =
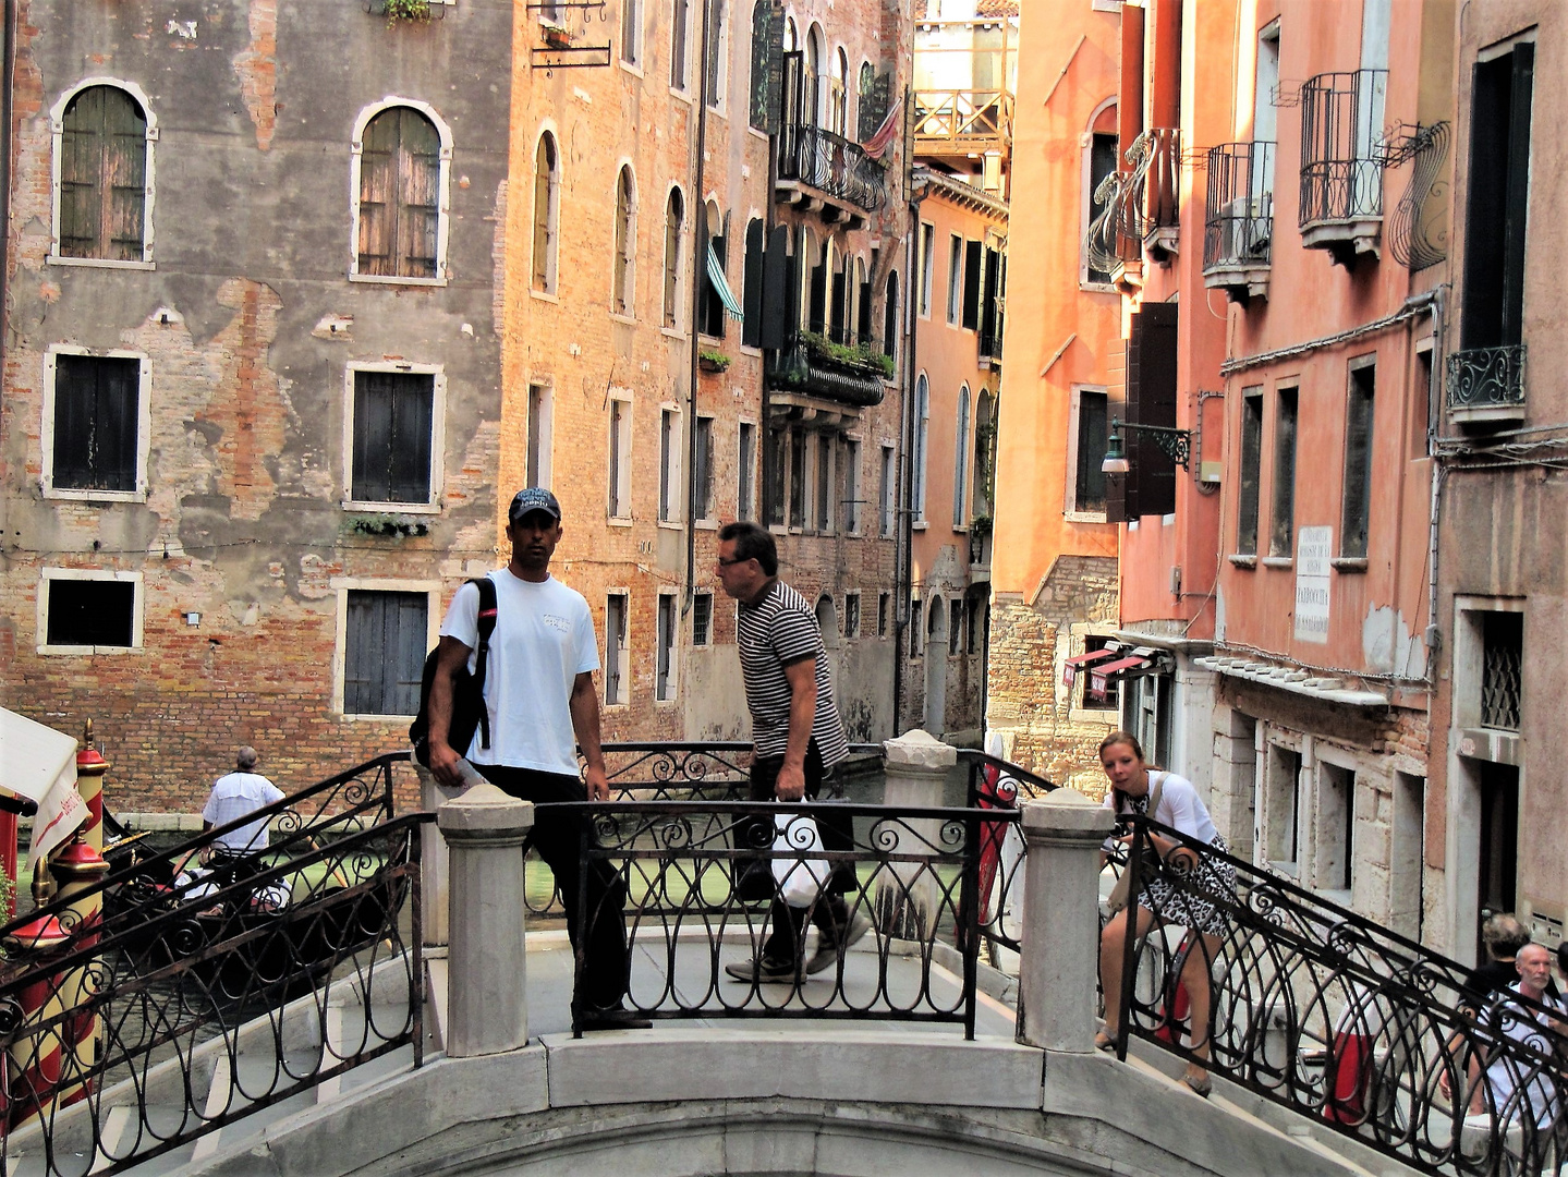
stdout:
{"type": "Polygon", "coordinates": [[[610,796],[599,748],[599,641],[588,602],[550,575],[561,539],[561,505],[544,487],[519,491],[506,511],[511,563],[489,574],[495,585],[495,632],[485,671],[489,746],[480,733],[467,748],[452,748],[455,675],[474,671],[480,592],[463,585],[441,622],[441,654],[430,688],[430,771],[458,787],[458,760],[467,759],[497,788],[541,806],[532,845],[555,875],[566,906],[572,947],[583,937],[579,882],[586,875],[586,947],[572,994],[579,1030],[632,1030],[651,1025],[622,1005],[630,958],[626,950],[626,884],[602,859],[580,862],[588,818],[575,809],[558,813],[550,802],[604,801],[610,796]],[[575,737],[575,740],[574,740],[575,737]],[[577,748],[586,763],[577,776],[577,748]],[[586,867],[586,870],[585,870],[586,867]]]}

